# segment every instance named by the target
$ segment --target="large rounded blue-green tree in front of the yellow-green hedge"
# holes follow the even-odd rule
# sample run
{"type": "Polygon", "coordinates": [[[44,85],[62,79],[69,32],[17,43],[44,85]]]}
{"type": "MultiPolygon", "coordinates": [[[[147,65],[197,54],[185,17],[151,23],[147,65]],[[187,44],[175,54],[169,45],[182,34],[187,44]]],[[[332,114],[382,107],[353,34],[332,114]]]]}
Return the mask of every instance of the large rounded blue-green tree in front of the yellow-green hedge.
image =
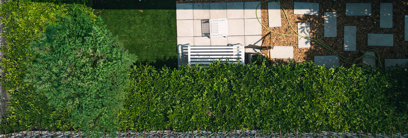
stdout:
{"type": "Polygon", "coordinates": [[[76,5],[70,13],[57,16],[58,23],[30,44],[35,59],[24,80],[44,93],[49,105],[68,109],[76,127],[113,131],[136,57],[100,18],[94,23],[76,5]]]}

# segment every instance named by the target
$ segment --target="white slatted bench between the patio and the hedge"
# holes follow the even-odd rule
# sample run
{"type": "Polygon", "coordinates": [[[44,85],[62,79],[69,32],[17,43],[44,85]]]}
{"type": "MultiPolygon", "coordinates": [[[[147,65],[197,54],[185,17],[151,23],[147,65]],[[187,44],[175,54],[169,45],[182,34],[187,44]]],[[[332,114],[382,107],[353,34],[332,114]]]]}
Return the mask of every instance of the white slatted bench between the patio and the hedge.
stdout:
{"type": "Polygon", "coordinates": [[[245,48],[242,44],[227,46],[188,46],[188,64],[245,63],[245,48]]]}

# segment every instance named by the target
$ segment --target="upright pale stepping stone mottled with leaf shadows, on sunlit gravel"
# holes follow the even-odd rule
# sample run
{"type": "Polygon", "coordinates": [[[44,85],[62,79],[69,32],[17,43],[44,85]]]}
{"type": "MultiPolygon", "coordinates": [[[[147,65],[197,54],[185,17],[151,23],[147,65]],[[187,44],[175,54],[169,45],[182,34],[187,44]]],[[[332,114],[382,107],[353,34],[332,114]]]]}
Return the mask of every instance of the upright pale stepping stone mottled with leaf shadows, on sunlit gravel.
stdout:
{"type": "MultiPolygon", "coordinates": [[[[298,22],[297,33],[301,36],[310,37],[310,22],[298,22]]],[[[310,48],[311,41],[303,37],[297,37],[298,48],[310,48]]]]}

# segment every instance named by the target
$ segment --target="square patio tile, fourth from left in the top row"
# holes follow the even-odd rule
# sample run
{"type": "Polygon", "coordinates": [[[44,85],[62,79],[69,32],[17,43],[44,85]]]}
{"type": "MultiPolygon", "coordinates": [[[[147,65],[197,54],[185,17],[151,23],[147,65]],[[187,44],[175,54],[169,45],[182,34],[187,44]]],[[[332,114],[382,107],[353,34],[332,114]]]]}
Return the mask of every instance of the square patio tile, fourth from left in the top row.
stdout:
{"type": "Polygon", "coordinates": [[[244,18],[244,2],[226,3],[226,18],[227,19],[243,19],[244,18]]]}

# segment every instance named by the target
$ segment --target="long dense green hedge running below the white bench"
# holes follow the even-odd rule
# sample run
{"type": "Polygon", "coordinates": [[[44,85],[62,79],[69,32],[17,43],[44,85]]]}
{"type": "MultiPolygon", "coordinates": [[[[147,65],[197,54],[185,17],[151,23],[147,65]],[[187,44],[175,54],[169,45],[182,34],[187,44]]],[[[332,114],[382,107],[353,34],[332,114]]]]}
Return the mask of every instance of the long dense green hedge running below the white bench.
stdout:
{"type": "Polygon", "coordinates": [[[396,70],[313,63],[135,66],[120,125],[122,130],[406,131],[408,72],[396,70]]]}

